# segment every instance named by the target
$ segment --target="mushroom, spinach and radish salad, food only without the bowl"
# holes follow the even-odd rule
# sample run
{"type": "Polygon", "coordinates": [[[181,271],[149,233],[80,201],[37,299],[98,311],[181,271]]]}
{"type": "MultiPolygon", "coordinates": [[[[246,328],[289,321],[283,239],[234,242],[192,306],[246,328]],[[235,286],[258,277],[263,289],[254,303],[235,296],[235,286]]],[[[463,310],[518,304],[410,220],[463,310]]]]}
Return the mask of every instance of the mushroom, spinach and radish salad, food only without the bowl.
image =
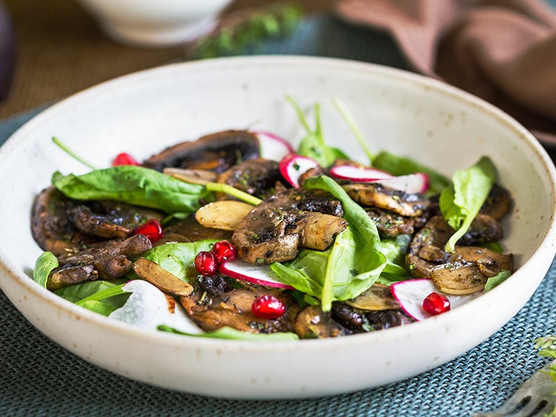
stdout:
{"type": "Polygon", "coordinates": [[[35,281],[147,329],[276,340],[409,325],[512,274],[499,243],[512,197],[488,157],[450,180],[373,154],[336,99],[363,165],[327,145],[319,104],[311,129],[288,100],[306,129],[297,149],[230,129],[141,163],[120,153],[112,167],[55,172],[33,204],[35,281]]]}

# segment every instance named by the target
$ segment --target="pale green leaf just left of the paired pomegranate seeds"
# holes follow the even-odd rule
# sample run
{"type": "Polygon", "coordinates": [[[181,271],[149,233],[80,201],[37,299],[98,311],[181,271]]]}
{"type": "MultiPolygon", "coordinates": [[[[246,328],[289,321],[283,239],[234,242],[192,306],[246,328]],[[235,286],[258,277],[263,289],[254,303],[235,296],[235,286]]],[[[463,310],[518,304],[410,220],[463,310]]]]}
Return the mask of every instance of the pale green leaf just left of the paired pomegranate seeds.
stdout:
{"type": "Polygon", "coordinates": [[[157,263],[179,279],[188,281],[188,278],[198,275],[193,265],[195,256],[201,251],[211,250],[216,242],[218,240],[211,239],[188,243],[165,243],[153,247],[141,256],[157,263]]]}

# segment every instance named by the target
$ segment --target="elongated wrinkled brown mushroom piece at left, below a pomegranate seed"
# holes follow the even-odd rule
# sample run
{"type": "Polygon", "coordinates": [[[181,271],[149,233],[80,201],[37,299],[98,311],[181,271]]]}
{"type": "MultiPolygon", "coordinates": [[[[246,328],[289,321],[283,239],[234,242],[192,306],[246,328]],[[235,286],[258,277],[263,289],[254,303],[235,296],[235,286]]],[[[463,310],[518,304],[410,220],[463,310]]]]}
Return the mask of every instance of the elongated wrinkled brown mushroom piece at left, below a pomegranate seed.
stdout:
{"type": "Polygon", "coordinates": [[[60,256],[60,266],[49,275],[47,288],[55,290],[96,279],[121,278],[131,269],[130,258],[151,248],[152,243],[146,236],[136,235],[123,241],[109,240],[77,254],[60,256]]]}

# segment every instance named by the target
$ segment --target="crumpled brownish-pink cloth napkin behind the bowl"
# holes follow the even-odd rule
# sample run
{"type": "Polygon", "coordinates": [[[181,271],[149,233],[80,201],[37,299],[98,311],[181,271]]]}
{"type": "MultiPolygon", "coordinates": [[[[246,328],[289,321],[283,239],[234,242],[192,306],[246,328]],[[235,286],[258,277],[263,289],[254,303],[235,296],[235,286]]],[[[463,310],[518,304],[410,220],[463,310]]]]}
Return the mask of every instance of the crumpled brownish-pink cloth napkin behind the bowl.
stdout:
{"type": "Polygon", "coordinates": [[[556,13],[539,0],[339,0],[389,31],[415,70],[467,90],[556,146],[556,13]]]}

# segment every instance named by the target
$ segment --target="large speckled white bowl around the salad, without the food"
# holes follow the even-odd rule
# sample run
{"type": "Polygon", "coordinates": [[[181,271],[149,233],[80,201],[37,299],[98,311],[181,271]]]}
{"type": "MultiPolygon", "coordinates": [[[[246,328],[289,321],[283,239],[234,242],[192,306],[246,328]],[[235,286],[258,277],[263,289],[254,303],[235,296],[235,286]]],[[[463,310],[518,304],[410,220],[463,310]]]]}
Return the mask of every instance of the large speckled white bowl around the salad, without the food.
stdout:
{"type": "Polygon", "coordinates": [[[47,109],[0,149],[0,284],[24,316],[70,352],[114,373],[170,389],[231,398],[296,398],[378,386],[466,352],[527,302],[555,254],[553,163],[523,127],[455,88],[391,68],[328,58],[250,57],[170,65],[124,76],[47,109]],[[51,143],[58,136],[97,166],[119,152],[146,158],[185,138],[256,127],[299,140],[284,97],[322,105],[325,138],[361,155],[331,104],[340,97],[371,149],[411,156],[450,175],[491,156],[514,197],[502,244],[518,270],[448,313],[344,338],[246,342],[145,332],[49,293],[29,274],[33,197],[55,170],[86,169],[51,143]],[[411,346],[408,350],[407,347],[411,346]]]}

